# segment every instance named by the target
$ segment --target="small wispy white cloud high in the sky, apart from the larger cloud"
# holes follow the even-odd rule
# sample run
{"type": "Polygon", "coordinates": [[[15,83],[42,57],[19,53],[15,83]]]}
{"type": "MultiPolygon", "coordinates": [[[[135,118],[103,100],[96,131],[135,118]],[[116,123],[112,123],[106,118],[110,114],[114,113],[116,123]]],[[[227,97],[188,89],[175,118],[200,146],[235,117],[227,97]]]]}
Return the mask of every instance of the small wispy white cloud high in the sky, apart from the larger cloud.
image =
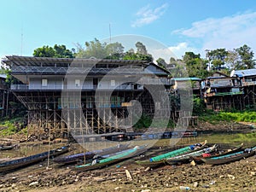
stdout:
{"type": "Polygon", "coordinates": [[[162,4],[160,7],[155,9],[150,9],[150,6],[147,5],[142,9],[137,11],[137,20],[133,21],[132,27],[144,26],[152,23],[154,20],[158,20],[161,15],[163,15],[168,7],[168,4],[162,4]]]}

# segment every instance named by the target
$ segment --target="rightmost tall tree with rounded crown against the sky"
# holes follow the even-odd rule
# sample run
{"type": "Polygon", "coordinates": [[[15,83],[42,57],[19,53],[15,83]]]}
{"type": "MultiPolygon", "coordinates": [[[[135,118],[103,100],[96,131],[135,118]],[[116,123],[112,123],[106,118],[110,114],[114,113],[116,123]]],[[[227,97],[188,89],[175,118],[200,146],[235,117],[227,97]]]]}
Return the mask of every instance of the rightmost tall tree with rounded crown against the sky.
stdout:
{"type": "Polygon", "coordinates": [[[236,65],[236,69],[250,69],[255,66],[255,61],[253,61],[253,51],[247,44],[244,44],[242,47],[236,49],[240,60],[236,65]]]}

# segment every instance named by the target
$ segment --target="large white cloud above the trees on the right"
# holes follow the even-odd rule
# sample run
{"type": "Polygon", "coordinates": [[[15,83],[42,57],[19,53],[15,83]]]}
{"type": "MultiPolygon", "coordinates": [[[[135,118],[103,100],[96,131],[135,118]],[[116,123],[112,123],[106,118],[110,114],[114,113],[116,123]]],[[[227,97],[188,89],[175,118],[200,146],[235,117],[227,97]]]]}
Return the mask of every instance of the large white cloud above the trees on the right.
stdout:
{"type": "Polygon", "coordinates": [[[205,49],[236,49],[247,44],[256,51],[256,12],[246,12],[223,18],[207,18],[196,21],[189,29],[173,33],[202,41],[201,52],[205,49]]]}

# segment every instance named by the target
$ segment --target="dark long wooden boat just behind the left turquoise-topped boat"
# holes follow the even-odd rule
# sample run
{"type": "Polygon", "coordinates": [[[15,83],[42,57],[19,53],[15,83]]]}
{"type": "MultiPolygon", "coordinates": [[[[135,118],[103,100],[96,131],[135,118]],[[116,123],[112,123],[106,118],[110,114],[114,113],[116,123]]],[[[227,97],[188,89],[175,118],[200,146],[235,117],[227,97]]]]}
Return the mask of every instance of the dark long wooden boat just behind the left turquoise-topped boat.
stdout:
{"type": "Polygon", "coordinates": [[[104,156],[106,154],[117,153],[127,148],[129,148],[129,144],[121,144],[121,145],[119,144],[111,148],[103,148],[103,149],[98,149],[94,151],[87,151],[85,153],[71,154],[63,157],[58,157],[58,158],[55,158],[54,161],[55,163],[59,163],[59,164],[72,164],[79,161],[83,161],[84,159],[86,161],[92,160],[96,156],[104,156]]]}

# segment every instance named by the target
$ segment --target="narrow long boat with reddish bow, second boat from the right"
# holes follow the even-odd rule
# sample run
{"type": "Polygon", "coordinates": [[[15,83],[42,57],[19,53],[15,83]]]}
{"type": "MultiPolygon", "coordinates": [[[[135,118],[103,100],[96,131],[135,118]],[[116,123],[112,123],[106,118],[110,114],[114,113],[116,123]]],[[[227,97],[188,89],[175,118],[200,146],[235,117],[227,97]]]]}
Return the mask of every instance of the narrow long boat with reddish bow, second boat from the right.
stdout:
{"type": "Polygon", "coordinates": [[[196,164],[201,164],[203,163],[203,161],[201,159],[208,159],[208,158],[212,158],[212,157],[218,157],[221,155],[225,155],[225,154],[234,154],[236,152],[239,152],[242,150],[243,147],[243,143],[241,143],[240,145],[235,146],[234,148],[229,148],[227,150],[218,150],[217,153],[207,153],[207,154],[202,154],[200,156],[193,156],[192,159],[195,161],[196,164]]]}

